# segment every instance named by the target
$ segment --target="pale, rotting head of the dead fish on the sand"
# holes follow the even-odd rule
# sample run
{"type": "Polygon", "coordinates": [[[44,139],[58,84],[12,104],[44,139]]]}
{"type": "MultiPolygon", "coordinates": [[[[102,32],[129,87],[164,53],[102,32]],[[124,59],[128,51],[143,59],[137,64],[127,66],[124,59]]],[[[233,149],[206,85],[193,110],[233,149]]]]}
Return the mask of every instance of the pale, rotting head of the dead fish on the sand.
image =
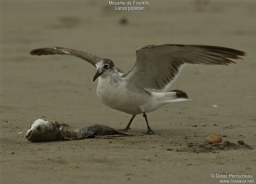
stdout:
{"type": "Polygon", "coordinates": [[[60,124],[46,118],[37,119],[29,128],[26,138],[31,142],[54,141],[61,138],[60,124]]]}

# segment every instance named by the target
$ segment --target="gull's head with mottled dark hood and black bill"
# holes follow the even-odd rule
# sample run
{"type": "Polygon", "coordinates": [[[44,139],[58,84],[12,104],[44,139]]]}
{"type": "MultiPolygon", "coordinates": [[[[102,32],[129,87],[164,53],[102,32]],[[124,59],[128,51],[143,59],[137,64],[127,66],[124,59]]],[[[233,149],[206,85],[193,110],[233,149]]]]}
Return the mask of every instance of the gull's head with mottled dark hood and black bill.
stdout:
{"type": "Polygon", "coordinates": [[[116,71],[115,63],[110,59],[101,59],[96,63],[95,66],[97,68],[97,72],[93,77],[93,82],[100,75],[108,75],[116,71]]]}

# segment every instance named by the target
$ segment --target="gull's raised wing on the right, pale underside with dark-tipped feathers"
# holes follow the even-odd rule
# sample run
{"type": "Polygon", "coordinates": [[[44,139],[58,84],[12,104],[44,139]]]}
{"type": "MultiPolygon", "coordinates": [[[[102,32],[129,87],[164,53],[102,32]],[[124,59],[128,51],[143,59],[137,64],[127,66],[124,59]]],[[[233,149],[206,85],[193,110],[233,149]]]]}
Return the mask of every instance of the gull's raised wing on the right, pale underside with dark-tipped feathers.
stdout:
{"type": "Polygon", "coordinates": [[[136,63],[124,80],[166,91],[186,64],[228,65],[245,52],[218,46],[158,44],[136,49],[136,63]],[[230,59],[228,59],[230,58],[230,59]]]}

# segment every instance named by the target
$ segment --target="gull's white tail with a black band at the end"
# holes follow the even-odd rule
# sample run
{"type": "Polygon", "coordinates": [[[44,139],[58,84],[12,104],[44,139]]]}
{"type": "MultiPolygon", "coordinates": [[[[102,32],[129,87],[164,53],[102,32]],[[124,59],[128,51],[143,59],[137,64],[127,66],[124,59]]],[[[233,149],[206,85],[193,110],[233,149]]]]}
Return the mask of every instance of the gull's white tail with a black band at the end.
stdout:
{"type": "Polygon", "coordinates": [[[166,105],[170,102],[179,102],[179,101],[186,101],[191,100],[188,98],[187,93],[181,90],[172,90],[168,92],[162,93],[153,93],[157,104],[160,106],[166,105]]]}

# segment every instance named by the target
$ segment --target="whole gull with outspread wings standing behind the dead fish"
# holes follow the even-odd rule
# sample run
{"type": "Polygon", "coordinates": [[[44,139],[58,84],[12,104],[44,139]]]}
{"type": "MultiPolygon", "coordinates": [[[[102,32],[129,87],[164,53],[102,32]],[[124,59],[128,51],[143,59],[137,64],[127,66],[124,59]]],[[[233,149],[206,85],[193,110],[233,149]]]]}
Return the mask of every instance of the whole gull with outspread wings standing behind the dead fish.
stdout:
{"type": "Polygon", "coordinates": [[[82,50],[63,47],[46,47],[32,50],[31,55],[67,54],[88,61],[97,71],[97,96],[108,107],[132,115],[128,125],[121,131],[127,132],[134,117],[143,114],[148,131],[155,134],[148,125],[146,113],[152,112],[170,102],[188,101],[188,95],[181,90],[167,91],[187,64],[228,65],[236,63],[230,59],[242,59],[243,51],[204,45],[157,44],[136,49],[136,62],[127,73],[115,66],[110,59],[82,50]],[[157,89],[164,92],[149,92],[157,89]]]}

